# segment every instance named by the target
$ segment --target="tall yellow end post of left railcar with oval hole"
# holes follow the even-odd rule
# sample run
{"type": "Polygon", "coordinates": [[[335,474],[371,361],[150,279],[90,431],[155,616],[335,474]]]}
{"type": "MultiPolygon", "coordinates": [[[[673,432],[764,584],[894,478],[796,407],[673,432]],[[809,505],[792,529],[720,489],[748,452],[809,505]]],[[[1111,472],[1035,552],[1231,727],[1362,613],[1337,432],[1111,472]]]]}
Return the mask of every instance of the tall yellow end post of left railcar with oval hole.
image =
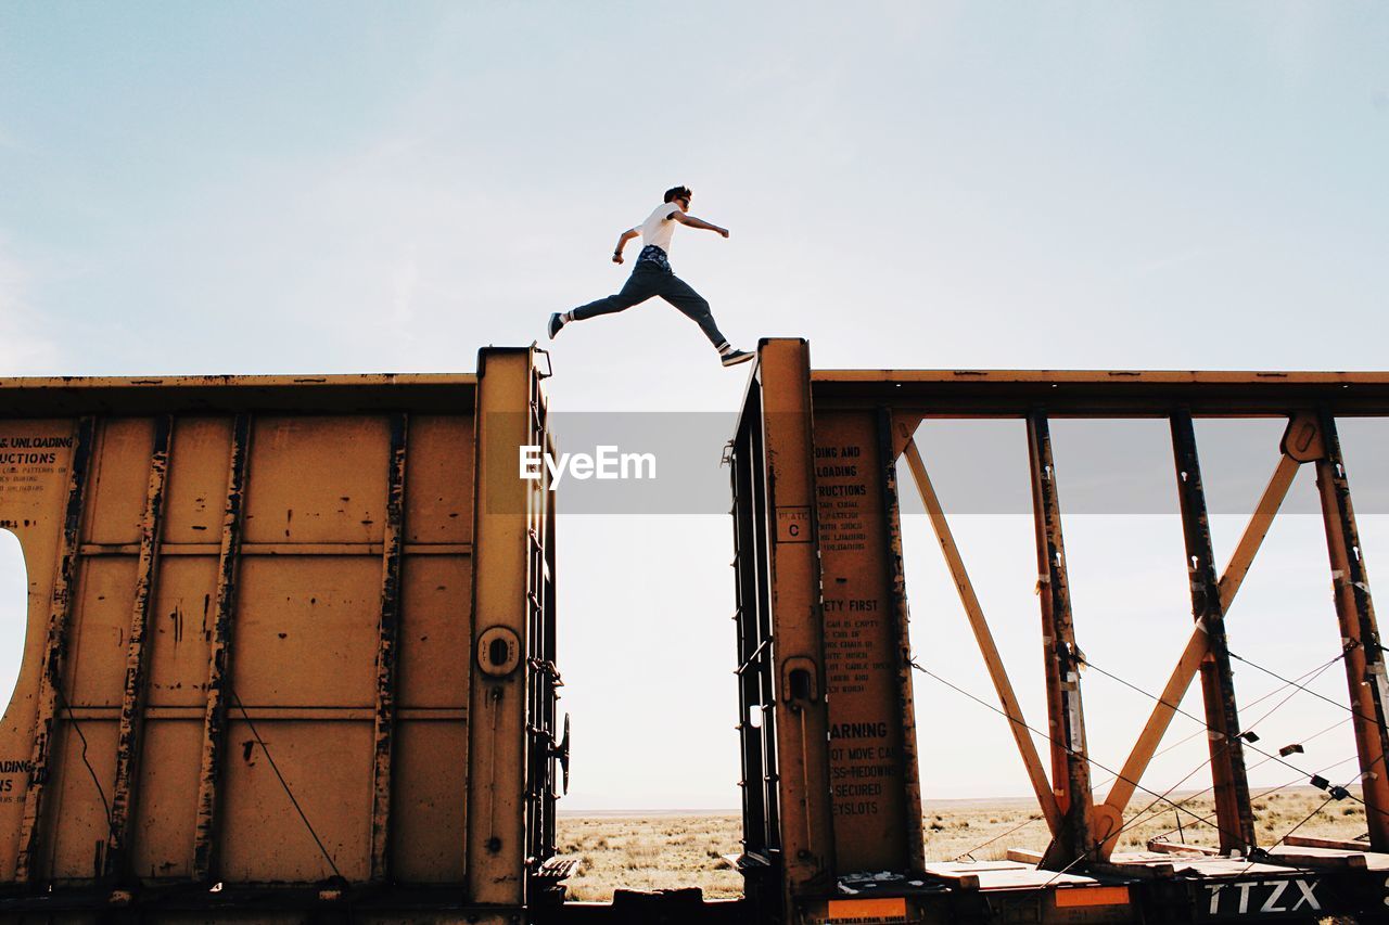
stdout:
{"type": "Polygon", "coordinates": [[[478,353],[465,879],[469,901],[508,907],[525,901],[532,378],[528,350],[478,353]]]}

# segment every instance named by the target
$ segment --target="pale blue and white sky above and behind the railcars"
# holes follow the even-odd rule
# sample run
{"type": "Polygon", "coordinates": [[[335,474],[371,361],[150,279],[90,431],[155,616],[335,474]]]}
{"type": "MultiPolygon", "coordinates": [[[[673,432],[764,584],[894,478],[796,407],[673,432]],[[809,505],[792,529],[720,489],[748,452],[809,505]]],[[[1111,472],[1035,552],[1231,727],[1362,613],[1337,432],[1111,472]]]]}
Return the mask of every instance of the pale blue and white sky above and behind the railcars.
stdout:
{"type": "MultiPolygon", "coordinates": [[[[820,367],[1385,368],[1386,49],[1376,3],[13,0],[0,375],[471,371],[617,290],[618,232],[676,183],[732,231],[681,229],[676,272],[735,343],[804,336],[820,367]]],[[[560,411],[726,412],[747,369],[658,301],[567,329],[554,365],[560,411]]],[[[1242,433],[1271,471],[1276,435],[1242,433]]],[[[1157,436],[1132,439],[1170,478],[1157,436]]],[[[1275,531],[1232,614],[1283,672],[1336,654],[1314,528],[1275,531]]],[[[1031,526],[957,529],[1038,690],[1031,526]]],[[[1067,531],[1082,647],[1160,686],[1189,625],[1175,519],[1067,531]]],[[[1389,528],[1365,532],[1372,565],[1389,528]]],[[[726,517],[569,515],[561,538],[568,808],[736,806],[726,517]]],[[[907,547],[918,649],[988,694],[921,518],[907,547]]],[[[1025,792],[1003,724],[929,683],[928,797],[1025,792]]],[[[1114,761],[1146,706],[1086,683],[1114,761]]],[[[1289,711],[1286,736],[1321,728],[1289,711]]]]}

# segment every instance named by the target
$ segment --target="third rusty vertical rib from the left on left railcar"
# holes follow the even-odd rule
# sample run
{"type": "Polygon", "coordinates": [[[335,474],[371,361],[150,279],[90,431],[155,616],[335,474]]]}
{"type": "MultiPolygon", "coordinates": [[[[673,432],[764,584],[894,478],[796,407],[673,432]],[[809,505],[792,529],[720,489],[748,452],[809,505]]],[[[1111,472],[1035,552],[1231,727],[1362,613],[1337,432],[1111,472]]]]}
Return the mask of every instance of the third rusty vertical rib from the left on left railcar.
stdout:
{"type": "Polygon", "coordinates": [[[226,507],[222,512],[222,546],[217,561],[217,610],[208,640],[207,708],[203,712],[203,762],[197,782],[197,824],[193,842],[193,875],[207,881],[214,871],[217,844],[217,785],[226,736],[226,685],[231,667],[232,614],[236,608],[236,565],[242,549],[242,512],[246,504],[246,471],[250,458],[251,415],[238,414],[232,426],[226,507]]]}

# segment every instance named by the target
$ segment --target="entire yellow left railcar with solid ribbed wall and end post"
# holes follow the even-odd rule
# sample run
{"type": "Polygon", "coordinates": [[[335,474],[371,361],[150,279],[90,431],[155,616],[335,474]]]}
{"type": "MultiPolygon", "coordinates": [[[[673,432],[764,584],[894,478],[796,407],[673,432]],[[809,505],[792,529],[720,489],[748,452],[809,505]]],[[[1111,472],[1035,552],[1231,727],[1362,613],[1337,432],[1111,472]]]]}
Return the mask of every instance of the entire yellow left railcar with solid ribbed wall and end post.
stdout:
{"type": "Polygon", "coordinates": [[[540,379],[0,381],[0,919],[519,921],[567,762],[540,379]]]}

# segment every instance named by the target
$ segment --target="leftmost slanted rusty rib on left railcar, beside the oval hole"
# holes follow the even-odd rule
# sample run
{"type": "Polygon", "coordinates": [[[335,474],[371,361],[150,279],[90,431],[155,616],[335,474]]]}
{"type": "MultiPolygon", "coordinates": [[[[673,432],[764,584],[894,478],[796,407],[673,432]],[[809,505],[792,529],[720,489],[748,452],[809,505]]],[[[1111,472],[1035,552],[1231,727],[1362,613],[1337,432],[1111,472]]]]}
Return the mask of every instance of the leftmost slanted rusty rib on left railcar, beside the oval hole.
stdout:
{"type": "Polygon", "coordinates": [[[68,619],[72,615],[74,588],[78,579],[78,550],[82,532],[82,510],[86,500],[88,468],[92,461],[92,438],[96,418],[78,421],[68,467],[68,501],[63,512],[63,535],[58,540],[58,568],[53,581],[49,608],[49,635],[39,668],[38,712],[33,724],[33,751],[29,785],[24,793],[24,821],[19,828],[19,853],[15,860],[15,881],[26,883],[33,876],[38,856],[39,814],[49,782],[49,762],[53,757],[53,732],[63,688],[63,662],[68,646],[68,619]]]}

